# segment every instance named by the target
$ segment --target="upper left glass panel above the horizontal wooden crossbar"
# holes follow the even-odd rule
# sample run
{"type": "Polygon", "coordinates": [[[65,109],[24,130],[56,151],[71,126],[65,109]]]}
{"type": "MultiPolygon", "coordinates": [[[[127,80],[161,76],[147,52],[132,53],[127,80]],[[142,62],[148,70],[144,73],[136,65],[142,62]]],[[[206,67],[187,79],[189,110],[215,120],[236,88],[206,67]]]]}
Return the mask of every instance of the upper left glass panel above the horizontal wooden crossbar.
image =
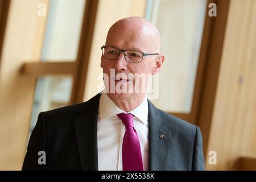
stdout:
{"type": "Polygon", "coordinates": [[[75,61],[79,48],[85,0],[51,0],[42,61],[75,61]]]}

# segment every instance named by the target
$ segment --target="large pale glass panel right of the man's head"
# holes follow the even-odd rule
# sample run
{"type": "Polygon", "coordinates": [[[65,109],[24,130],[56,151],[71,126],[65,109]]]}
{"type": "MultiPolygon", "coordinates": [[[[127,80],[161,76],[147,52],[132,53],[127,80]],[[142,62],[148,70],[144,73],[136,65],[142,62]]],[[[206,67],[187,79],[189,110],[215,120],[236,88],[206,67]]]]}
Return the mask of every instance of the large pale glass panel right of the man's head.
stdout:
{"type": "Polygon", "coordinates": [[[207,0],[147,2],[146,18],[158,27],[162,53],[159,97],[152,102],[169,112],[191,111],[207,0]]]}

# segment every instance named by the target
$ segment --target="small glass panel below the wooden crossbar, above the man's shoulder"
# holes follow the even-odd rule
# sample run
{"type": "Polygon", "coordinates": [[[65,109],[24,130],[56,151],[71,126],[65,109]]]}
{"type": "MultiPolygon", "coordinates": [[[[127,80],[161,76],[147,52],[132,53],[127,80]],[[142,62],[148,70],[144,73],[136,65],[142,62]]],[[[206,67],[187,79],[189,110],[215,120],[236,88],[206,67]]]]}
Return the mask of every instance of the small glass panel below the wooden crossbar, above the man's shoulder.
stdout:
{"type": "Polygon", "coordinates": [[[30,133],[34,129],[41,111],[56,109],[69,104],[72,90],[72,77],[39,77],[36,83],[30,133]]]}

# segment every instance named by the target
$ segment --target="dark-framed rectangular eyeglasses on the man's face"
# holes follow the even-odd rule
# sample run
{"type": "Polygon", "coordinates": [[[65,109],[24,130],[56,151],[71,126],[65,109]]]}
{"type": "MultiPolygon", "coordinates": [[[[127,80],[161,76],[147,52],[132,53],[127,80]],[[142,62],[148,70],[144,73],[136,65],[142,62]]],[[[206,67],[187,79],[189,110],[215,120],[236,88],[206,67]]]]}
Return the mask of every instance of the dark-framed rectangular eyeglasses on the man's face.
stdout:
{"type": "Polygon", "coordinates": [[[143,56],[159,55],[159,53],[143,53],[136,50],[122,50],[112,46],[101,47],[102,56],[105,59],[115,60],[119,56],[120,52],[123,52],[125,60],[129,63],[141,63],[143,56]]]}

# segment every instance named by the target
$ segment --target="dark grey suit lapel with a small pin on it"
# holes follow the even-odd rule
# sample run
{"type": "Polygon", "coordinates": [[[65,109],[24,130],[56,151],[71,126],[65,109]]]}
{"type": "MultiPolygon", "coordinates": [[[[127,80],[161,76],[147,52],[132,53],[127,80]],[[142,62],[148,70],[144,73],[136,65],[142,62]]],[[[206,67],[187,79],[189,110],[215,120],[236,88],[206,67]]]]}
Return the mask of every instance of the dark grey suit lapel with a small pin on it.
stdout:
{"type": "Polygon", "coordinates": [[[165,170],[171,144],[171,131],[165,126],[161,112],[148,101],[149,170],[165,170]]]}

